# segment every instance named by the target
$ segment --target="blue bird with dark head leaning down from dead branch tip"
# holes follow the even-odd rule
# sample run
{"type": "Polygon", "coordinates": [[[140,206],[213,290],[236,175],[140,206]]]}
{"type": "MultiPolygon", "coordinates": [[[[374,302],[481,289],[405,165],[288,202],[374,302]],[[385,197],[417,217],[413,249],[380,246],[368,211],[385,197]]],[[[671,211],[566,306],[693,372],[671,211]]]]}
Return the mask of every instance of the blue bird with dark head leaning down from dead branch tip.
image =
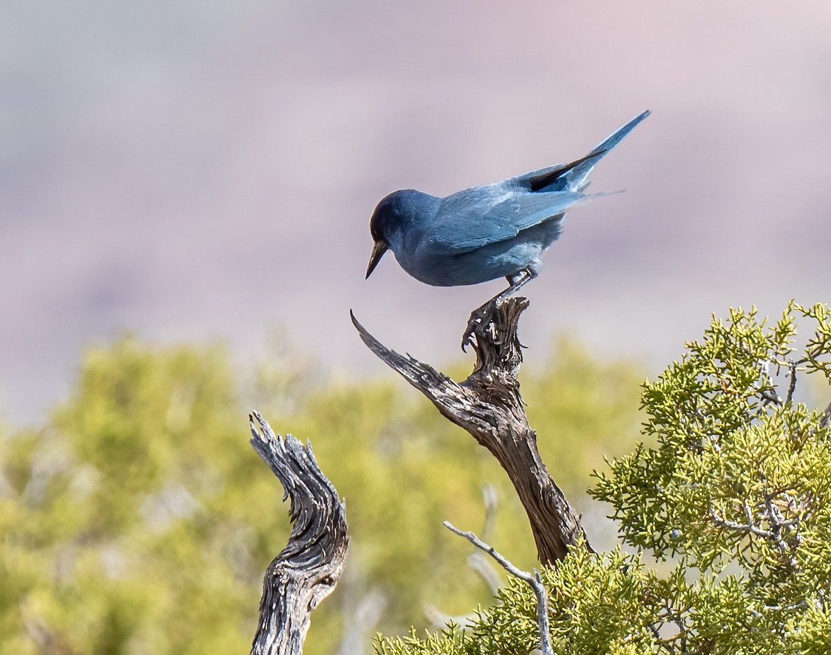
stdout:
{"type": "Polygon", "coordinates": [[[484,310],[515,293],[543,268],[543,251],[563,232],[568,209],[605,195],[584,194],[597,162],[643,119],[644,111],[569,164],[475,186],[445,198],[408,189],[382,199],[372,214],[369,278],[387,249],[407,273],[437,287],[507,278],[509,287],[470,317],[462,347],[484,310]]]}

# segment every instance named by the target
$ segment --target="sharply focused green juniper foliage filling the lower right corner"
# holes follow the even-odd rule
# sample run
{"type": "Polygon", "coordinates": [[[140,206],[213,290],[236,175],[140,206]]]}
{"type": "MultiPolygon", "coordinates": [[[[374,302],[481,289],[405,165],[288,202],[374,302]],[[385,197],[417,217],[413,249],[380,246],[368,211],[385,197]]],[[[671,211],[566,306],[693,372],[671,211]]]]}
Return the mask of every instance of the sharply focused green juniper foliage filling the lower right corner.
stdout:
{"type": "MultiPolygon", "coordinates": [[[[575,548],[543,571],[555,653],[831,652],[829,387],[819,409],[794,401],[798,379],[829,371],[831,311],[789,303],[772,325],[755,309],[713,318],[644,383],[653,445],[590,490],[636,554],[575,548]]],[[[533,596],[512,581],[472,627],[377,652],[529,653],[534,628],[533,596]]]]}

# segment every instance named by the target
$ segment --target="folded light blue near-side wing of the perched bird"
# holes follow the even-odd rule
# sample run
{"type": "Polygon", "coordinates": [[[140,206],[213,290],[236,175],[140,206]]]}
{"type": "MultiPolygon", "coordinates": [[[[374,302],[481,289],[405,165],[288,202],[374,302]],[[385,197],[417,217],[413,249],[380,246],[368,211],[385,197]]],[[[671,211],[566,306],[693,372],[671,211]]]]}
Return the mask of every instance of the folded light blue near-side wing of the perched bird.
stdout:
{"type": "Polygon", "coordinates": [[[530,192],[514,180],[460,191],[442,199],[435,234],[440,249],[455,254],[511,239],[524,229],[543,223],[593,198],[576,191],[530,192]]]}

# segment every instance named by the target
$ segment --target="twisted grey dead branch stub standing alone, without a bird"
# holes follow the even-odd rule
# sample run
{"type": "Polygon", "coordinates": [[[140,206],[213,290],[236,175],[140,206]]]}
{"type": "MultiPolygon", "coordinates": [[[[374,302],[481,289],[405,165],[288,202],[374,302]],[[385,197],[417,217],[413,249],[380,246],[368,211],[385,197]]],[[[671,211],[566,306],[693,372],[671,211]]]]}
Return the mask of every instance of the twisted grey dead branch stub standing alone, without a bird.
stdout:
{"type": "Polygon", "coordinates": [[[256,411],[251,445],[291,501],[292,533],[263,579],[254,655],[300,655],[312,609],[335,589],[347,558],[346,507],[312,454],[293,436],[281,438],[256,411]],[[255,422],[256,421],[256,422],[255,422]]]}

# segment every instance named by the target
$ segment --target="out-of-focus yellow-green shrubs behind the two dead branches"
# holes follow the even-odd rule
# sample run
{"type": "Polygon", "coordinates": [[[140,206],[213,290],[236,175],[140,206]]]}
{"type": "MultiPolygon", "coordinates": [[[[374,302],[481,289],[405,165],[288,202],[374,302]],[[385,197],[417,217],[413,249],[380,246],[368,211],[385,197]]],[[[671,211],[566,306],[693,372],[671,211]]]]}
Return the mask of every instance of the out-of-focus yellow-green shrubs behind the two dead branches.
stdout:
{"type": "MultiPolygon", "coordinates": [[[[469,435],[409,387],[327,382],[284,339],[275,351],[247,381],[221,345],[123,337],[86,352],[40,429],[0,428],[0,653],[34,653],[36,636],[76,653],[245,652],[263,573],[288,537],[278,480],[247,443],[253,407],[312,441],[347,500],[347,568],[306,653],[424,627],[426,603],[462,614],[489,602],[469,544],[442,527],[478,529],[485,484],[499,499],[489,537],[533,565],[514,490],[469,435]]],[[[540,446],[579,463],[563,481],[576,491],[594,452],[634,437],[640,376],[577,347],[532,376],[540,446]]]]}

